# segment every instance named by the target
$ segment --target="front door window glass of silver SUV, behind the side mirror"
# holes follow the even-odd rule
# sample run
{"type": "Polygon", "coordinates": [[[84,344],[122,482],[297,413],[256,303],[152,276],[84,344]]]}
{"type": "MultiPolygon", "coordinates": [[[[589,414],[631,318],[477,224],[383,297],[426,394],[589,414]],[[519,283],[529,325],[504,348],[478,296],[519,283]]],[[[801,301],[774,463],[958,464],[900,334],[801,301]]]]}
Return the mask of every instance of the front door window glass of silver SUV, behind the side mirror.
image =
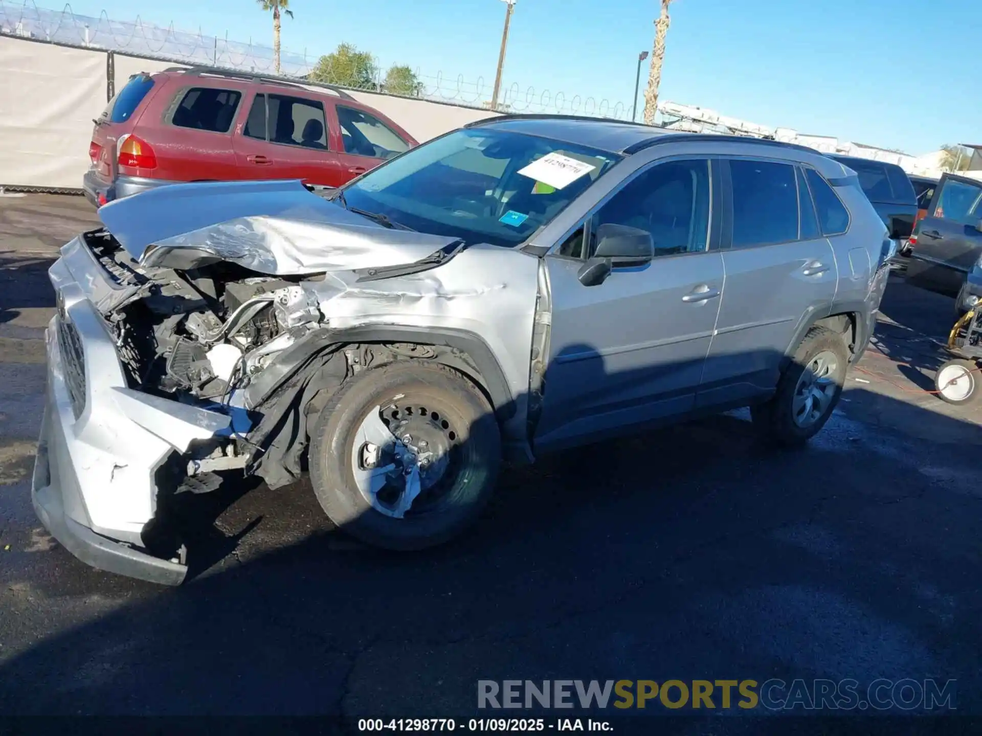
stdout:
{"type": "MultiPolygon", "coordinates": [[[[591,232],[596,233],[606,224],[646,230],[654,240],[656,257],[705,250],[709,181],[706,159],[653,166],[625,184],[600,208],[593,216],[591,232]]],[[[591,237],[591,251],[596,246],[592,240],[591,237]]],[[[560,252],[566,247],[564,243],[560,252]]],[[[571,250],[574,248],[573,244],[571,250]]]]}

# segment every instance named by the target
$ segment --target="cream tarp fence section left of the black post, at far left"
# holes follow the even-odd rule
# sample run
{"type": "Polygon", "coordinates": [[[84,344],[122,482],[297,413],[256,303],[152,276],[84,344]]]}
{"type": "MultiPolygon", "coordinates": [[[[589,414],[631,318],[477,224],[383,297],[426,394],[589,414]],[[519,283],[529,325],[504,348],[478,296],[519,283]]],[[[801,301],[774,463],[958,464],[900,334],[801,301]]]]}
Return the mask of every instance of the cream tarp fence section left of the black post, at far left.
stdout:
{"type": "Polygon", "coordinates": [[[0,184],[79,188],[105,52],[0,36],[0,184]]]}

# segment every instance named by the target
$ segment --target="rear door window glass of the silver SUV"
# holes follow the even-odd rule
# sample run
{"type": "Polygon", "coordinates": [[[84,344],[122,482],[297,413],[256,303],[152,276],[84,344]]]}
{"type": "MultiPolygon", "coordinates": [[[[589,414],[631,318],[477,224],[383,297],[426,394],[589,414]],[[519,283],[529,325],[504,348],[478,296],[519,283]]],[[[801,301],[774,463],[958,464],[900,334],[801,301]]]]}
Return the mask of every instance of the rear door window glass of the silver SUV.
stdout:
{"type": "Polygon", "coordinates": [[[771,161],[730,160],[735,248],[789,242],[798,237],[794,167],[771,161]]]}

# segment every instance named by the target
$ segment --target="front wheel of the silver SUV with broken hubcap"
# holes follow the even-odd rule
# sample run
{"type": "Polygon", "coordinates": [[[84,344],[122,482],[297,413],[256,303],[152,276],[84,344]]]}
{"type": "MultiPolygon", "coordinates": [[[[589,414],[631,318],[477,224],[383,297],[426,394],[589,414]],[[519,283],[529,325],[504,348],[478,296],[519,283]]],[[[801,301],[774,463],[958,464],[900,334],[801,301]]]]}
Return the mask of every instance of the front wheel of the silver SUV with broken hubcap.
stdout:
{"type": "Polygon", "coordinates": [[[344,532],[387,550],[461,534],[494,490],[501,437],[487,399],[460,373],[400,361],[363,371],[311,435],[314,493],[344,532]]]}

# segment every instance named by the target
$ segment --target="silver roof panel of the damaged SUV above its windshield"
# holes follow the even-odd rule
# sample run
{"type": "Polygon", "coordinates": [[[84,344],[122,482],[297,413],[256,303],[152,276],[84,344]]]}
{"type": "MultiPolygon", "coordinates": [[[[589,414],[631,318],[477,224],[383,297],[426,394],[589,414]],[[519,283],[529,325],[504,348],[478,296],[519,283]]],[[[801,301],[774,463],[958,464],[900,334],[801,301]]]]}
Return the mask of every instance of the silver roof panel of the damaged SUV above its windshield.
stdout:
{"type": "Polygon", "coordinates": [[[681,134],[639,123],[567,115],[505,115],[471,123],[467,128],[475,126],[541,135],[611,153],[623,153],[632,146],[645,144],[665,135],[681,134]]]}

